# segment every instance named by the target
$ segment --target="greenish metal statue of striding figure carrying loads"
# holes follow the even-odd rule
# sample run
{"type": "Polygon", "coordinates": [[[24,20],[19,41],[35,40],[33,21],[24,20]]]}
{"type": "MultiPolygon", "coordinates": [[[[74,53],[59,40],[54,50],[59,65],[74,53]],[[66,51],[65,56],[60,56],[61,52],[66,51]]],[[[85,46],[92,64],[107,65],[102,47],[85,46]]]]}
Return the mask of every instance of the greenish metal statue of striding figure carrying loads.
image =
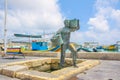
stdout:
{"type": "Polygon", "coordinates": [[[70,44],[70,33],[78,30],[79,20],[64,20],[65,27],[59,29],[57,33],[51,38],[53,46],[61,46],[60,67],[64,67],[65,51],[69,49],[73,58],[73,66],[76,67],[77,51],[70,44]]]}

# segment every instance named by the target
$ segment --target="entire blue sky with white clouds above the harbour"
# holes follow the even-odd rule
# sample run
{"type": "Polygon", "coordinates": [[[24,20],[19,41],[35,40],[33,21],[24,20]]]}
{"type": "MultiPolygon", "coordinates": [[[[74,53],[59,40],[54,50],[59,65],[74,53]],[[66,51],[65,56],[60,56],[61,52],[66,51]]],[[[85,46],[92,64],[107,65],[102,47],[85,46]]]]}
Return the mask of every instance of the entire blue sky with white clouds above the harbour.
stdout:
{"type": "MultiPolygon", "coordinates": [[[[0,0],[0,38],[4,38],[4,1],[0,0]]],[[[65,19],[79,19],[71,42],[115,44],[120,41],[120,0],[8,0],[7,37],[40,35],[64,27],[65,19]]],[[[46,35],[50,38],[51,35],[46,35]]]]}

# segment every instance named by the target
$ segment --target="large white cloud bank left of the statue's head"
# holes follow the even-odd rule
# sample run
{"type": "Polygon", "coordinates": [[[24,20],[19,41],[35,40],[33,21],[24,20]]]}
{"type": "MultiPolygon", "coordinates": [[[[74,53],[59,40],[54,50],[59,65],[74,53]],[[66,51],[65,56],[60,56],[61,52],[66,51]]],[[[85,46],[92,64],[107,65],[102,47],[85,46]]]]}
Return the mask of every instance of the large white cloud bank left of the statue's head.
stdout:
{"type": "MultiPolygon", "coordinates": [[[[1,1],[3,2],[4,0],[1,1]]],[[[3,9],[0,9],[0,17],[4,16],[1,14],[3,12],[3,9]]],[[[3,20],[4,17],[0,18],[0,25],[3,20]]],[[[41,34],[43,30],[55,32],[62,26],[63,16],[58,0],[8,0],[8,35],[14,33],[41,34]]]]}

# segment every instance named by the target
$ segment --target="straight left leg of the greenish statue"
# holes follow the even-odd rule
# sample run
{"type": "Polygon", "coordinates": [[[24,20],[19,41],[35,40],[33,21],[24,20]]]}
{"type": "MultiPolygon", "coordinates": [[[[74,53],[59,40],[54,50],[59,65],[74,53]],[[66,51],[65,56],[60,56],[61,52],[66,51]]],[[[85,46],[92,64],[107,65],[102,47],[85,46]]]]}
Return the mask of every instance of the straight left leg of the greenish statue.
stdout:
{"type": "Polygon", "coordinates": [[[64,63],[65,63],[65,51],[66,51],[66,46],[64,44],[62,44],[61,45],[60,67],[64,67],[64,63]]]}

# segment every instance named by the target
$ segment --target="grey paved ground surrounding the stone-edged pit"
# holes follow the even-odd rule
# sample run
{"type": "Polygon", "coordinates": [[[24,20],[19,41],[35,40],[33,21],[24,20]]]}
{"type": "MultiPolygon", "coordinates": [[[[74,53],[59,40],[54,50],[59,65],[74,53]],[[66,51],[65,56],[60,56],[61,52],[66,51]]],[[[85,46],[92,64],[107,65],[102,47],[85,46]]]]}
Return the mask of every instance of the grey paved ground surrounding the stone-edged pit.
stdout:
{"type": "MultiPolygon", "coordinates": [[[[17,57],[15,59],[0,57],[0,65],[10,62],[25,61],[31,59],[40,59],[44,57],[17,57]]],[[[120,61],[115,60],[100,60],[101,64],[93,67],[90,70],[84,71],[76,75],[70,80],[120,80],[120,61]]],[[[19,80],[0,75],[0,80],[19,80]]]]}

